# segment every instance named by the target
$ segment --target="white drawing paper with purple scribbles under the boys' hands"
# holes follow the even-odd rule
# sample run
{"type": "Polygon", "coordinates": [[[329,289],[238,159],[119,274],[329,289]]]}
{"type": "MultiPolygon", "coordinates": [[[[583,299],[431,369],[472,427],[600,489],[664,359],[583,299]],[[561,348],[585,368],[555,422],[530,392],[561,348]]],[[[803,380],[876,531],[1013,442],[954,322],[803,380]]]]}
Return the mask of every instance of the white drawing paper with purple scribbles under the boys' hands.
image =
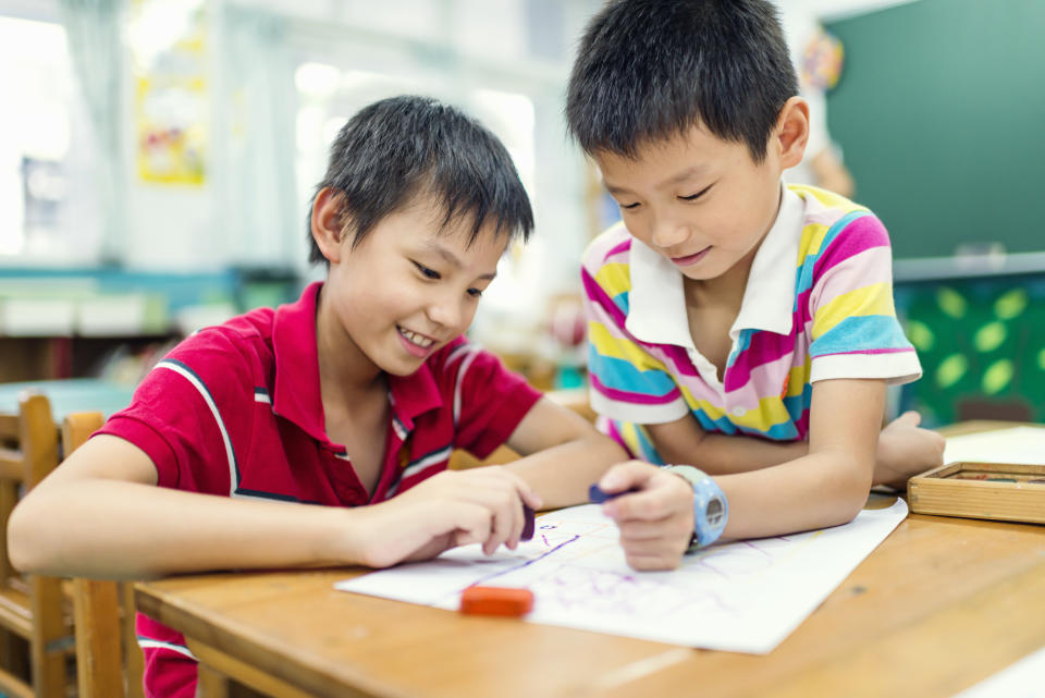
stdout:
{"type": "Polygon", "coordinates": [[[335,585],[456,610],[471,585],[527,587],[533,623],[661,642],[766,653],[907,516],[903,500],[864,510],[845,526],[724,542],[686,555],[673,572],[636,572],[617,527],[595,504],[537,521],[533,540],[491,556],[479,546],[335,585]]]}

